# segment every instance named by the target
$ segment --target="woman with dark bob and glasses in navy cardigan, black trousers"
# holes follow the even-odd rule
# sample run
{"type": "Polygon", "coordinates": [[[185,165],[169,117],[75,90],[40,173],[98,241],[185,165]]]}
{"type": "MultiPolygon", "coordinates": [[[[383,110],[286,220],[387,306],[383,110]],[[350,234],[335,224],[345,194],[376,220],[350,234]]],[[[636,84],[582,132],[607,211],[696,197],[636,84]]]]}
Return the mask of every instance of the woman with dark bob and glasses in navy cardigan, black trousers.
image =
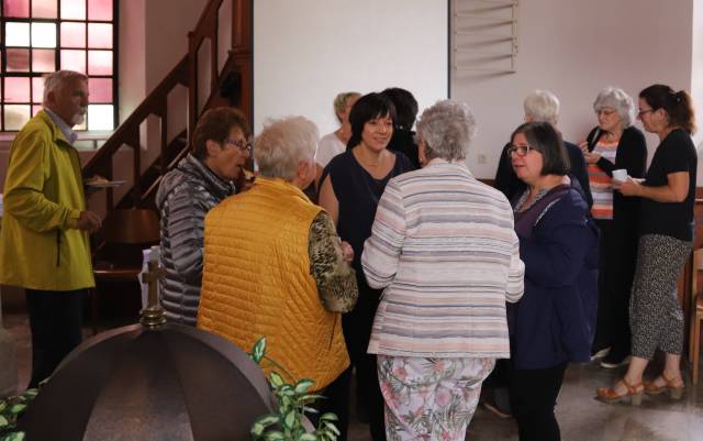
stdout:
{"type": "Polygon", "coordinates": [[[554,409],[569,362],[590,359],[596,301],[598,229],[554,126],[528,122],[509,155],[527,189],[514,202],[525,294],[509,309],[511,410],[520,441],[560,440],[554,409]]]}

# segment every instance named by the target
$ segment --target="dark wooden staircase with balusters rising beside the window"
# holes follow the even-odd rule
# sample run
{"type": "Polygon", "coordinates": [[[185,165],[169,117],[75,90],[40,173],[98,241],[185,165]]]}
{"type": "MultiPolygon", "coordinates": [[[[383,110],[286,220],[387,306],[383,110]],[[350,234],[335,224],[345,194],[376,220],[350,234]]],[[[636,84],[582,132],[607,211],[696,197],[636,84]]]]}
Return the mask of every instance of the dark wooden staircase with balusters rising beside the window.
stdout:
{"type": "Polygon", "coordinates": [[[252,3],[211,0],[188,33],[188,54],[85,165],[86,177],[114,179],[118,153],[123,157],[125,150],[131,152],[126,194],[116,198],[112,188],[101,194],[108,212],[153,208],[161,177],[188,154],[193,129],[205,110],[233,106],[252,120],[252,3]],[[181,87],[188,91],[187,106],[169,106],[169,96],[181,87]],[[158,120],[158,136],[148,137],[159,140],[157,155],[147,154],[155,146],[147,145],[147,132],[142,130],[153,117],[158,120]],[[182,126],[174,129],[178,122],[182,126]]]}

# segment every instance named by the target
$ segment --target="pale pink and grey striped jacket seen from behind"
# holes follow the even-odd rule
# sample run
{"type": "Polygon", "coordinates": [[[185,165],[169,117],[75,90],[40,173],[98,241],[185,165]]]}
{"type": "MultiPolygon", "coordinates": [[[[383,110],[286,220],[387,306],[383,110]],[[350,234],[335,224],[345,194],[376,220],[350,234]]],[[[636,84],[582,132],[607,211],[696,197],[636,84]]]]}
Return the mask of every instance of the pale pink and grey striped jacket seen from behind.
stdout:
{"type": "Polygon", "coordinates": [[[522,297],[525,271],[513,211],[466,165],[433,159],[391,179],[361,264],[386,288],[369,353],[510,356],[505,302],[522,297]]]}

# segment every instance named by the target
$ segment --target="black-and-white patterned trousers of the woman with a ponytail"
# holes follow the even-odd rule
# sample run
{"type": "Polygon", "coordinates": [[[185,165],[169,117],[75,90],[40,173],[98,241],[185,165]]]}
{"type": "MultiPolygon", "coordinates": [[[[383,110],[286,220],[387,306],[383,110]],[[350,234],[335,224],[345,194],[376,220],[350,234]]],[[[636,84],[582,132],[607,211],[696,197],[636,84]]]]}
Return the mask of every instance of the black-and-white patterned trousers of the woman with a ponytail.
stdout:
{"type": "Polygon", "coordinates": [[[691,242],[646,234],[639,238],[637,267],[629,299],[632,355],[651,360],[657,349],[683,350],[683,311],[677,279],[691,253],[691,242]]]}

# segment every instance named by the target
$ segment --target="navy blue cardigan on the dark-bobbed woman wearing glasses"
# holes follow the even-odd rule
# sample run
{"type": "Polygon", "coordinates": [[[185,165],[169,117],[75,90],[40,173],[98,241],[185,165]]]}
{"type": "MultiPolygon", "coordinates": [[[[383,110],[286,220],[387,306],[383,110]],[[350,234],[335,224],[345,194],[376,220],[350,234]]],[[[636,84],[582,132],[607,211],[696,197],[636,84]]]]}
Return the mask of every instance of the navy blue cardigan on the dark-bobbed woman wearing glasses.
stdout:
{"type": "Polygon", "coordinates": [[[511,357],[520,370],[590,360],[598,304],[598,228],[571,188],[520,236],[525,295],[511,311],[511,357]]]}

